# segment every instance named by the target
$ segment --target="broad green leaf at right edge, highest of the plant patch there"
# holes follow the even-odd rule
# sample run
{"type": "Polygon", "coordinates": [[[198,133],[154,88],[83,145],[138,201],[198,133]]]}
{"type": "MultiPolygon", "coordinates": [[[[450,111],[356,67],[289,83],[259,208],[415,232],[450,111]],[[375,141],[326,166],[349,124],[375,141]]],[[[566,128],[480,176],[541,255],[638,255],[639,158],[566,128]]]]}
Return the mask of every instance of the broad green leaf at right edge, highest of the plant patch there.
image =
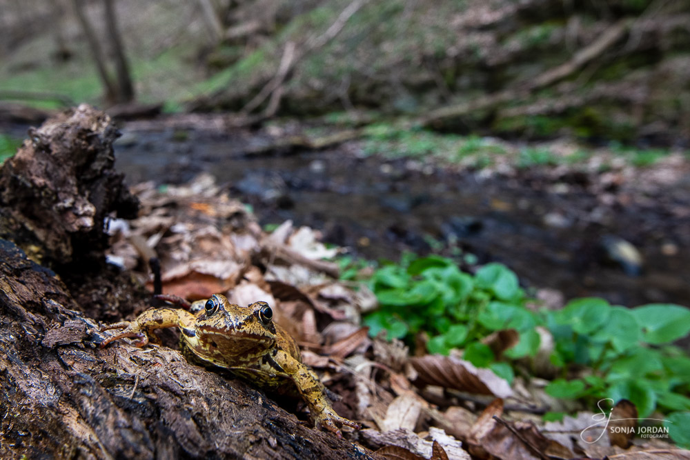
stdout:
{"type": "Polygon", "coordinates": [[[643,338],[648,343],[669,343],[690,332],[690,309],[680,305],[650,303],[631,311],[642,325],[643,338]]]}

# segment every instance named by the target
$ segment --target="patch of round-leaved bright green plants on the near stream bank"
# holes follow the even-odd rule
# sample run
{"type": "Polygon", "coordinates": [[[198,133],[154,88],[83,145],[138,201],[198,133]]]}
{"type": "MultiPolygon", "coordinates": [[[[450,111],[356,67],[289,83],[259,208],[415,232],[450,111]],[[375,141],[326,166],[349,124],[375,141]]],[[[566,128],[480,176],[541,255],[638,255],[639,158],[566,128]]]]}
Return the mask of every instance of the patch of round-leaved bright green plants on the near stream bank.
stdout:
{"type": "MultiPolygon", "coordinates": [[[[555,342],[551,363],[562,372],[546,387],[551,396],[588,403],[629,399],[640,417],[655,410],[669,414],[667,420],[690,417],[690,357],[673,346],[690,332],[687,308],[624,308],[592,297],[558,311],[535,311],[527,308],[531,299],[506,266],[489,263],[469,274],[439,256],[406,255],[400,264],[375,270],[368,283],[380,303],[364,318],[373,336],[386,331],[388,339],[414,343],[419,332],[426,332],[428,352],[463,350],[467,361],[511,381],[515,360],[535,356],[537,328],[546,328],[555,342]],[[520,341],[496,357],[481,340],[506,329],[516,330],[520,341]]],[[[683,429],[669,423],[671,437],[690,446],[683,429]]]]}

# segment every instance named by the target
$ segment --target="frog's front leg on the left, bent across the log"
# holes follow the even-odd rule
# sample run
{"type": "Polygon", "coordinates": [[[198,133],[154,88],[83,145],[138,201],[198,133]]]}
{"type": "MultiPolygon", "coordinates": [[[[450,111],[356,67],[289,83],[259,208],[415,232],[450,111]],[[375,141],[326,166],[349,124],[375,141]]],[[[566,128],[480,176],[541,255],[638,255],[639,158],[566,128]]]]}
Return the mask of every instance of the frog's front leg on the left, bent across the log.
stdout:
{"type": "Polygon", "coordinates": [[[124,337],[135,337],[138,340],[135,346],[143,347],[148,343],[148,334],[154,329],[163,328],[194,328],[195,316],[186,310],[177,308],[155,308],[141,313],[134,321],[120,321],[119,323],[108,324],[101,327],[101,331],[110,329],[121,329],[101,342],[101,348],[108,343],[124,337]]]}

